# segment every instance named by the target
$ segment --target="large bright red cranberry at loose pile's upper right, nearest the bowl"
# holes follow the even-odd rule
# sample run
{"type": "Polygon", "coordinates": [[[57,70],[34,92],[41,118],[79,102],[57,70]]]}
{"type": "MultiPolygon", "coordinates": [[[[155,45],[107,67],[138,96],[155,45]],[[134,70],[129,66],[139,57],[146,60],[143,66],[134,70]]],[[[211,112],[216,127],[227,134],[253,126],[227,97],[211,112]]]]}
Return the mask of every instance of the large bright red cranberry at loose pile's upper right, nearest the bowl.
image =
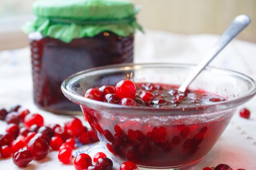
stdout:
{"type": "Polygon", "coordinates": [[[65,130],[70,132],[72,137],[77,137],[83,133],[83,124],[78,118],[70,117],[65,122],[65,130]]]}

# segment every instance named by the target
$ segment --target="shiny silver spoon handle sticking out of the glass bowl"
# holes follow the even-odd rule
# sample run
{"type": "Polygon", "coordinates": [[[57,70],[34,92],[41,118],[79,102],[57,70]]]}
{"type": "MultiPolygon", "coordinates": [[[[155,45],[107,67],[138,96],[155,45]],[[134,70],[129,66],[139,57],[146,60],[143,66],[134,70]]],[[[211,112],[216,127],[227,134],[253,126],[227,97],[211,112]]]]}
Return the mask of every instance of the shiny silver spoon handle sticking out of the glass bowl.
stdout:
{"type": "Polygon", "coordinates": [[[249,23],[250,17],[247,15],[237,16],[227,30],[221,35],[218,42],[213,46],[204,59],[196,66],[196,68],[189,74],[186,80],[179,88],[180,92],[185,92],[192,81],[204,70],[204,68],[216,57],[216,55],[225,47],[229,42],[236,37],[249,23]]]}

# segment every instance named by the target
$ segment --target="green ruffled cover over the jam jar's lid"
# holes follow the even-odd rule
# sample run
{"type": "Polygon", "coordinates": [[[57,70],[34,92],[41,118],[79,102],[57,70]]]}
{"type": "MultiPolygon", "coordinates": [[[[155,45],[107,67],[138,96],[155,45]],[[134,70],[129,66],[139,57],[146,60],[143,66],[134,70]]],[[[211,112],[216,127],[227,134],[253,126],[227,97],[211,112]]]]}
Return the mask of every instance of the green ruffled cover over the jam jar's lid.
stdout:
{"type": "Polygon", "coordinates": [[[104,31],[123,37],[136,29],[142,31],[135,19],[139,8],[123,0],[39,0],[32,10],[36,19],[23,26],[23,31],[38,31],[64,42],[104,31]]]}

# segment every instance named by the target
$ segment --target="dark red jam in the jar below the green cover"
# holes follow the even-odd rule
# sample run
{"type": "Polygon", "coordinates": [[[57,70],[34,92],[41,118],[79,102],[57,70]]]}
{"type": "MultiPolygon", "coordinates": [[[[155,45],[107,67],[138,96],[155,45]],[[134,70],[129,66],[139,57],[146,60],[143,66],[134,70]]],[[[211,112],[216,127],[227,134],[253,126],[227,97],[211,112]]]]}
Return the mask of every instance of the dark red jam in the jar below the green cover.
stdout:
{"type": "Polygon", "coordinates": [[[61,83],[81,70],[133,61],[133,34],[121,37],[103,32],[94,37],[73,39],[66,43],[29,35],[35,104],[54,113],[72,113],[80,107],[65,98],[61,83]]]}

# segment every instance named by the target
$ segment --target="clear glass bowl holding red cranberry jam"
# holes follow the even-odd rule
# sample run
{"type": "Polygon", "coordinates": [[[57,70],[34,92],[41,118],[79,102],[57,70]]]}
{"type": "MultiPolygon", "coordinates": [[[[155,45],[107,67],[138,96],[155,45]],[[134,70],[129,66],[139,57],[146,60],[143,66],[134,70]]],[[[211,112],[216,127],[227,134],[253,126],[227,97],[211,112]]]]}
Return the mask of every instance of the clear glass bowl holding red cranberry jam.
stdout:
{"type": "Polygon", "coordinates": [[[255,95],[256,83],[252,78],[207,67],[190,89],[203,89],[227,100],[185,109],[128,107],[83,96],[87,89],[115,85],[122,79],[180,85],[193,68],[194,65],[162,63],[110,65],[74,74],[62,83],[61,89],[68,99],[81,106],[114,159],[128,159],[141,168],[181,170],[203,159],[237,107],[255,95]]]}

